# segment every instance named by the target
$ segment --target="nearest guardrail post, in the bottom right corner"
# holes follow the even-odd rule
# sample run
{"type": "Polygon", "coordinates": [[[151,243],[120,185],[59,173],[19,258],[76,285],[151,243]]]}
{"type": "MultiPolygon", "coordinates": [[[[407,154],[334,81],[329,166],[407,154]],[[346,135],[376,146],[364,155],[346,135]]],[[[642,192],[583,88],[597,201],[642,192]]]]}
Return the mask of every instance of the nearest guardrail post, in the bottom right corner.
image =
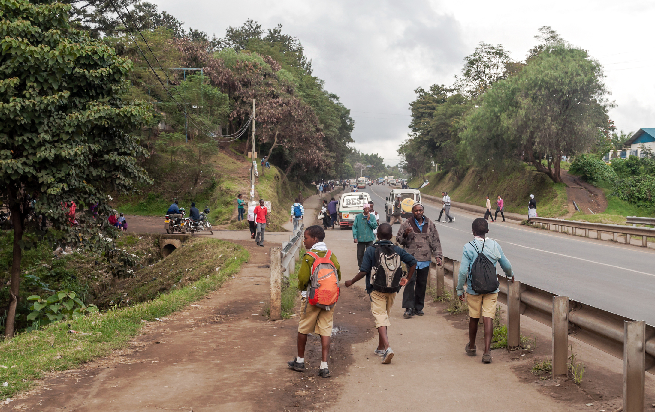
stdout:
{"type": "Polygon", "coordinates": [[[645,407],[646,322],[624,322],[623,411],[643,412],[645,407]]]}

